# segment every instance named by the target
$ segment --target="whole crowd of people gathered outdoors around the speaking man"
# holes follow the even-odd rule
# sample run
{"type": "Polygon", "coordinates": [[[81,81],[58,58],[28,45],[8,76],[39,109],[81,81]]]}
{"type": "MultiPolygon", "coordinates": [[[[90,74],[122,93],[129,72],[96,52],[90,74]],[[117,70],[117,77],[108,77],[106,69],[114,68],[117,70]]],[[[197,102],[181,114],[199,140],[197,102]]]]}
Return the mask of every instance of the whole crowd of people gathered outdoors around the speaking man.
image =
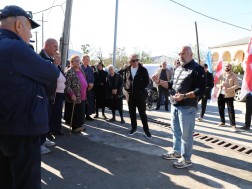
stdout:
{"type": "MultiPolygon", "coordinates": [[[[99,109],[108,122],[116,121],[118,110],[120,123],[124,124],[124,95],[130,115],[128,135],[137,132],[138,109],[144,134],[152,138],[146,114],[150,76],[137,54],[129,57],[119,73],[113,65],[108,66],[108,72],[104,71],[102,62],[94,70],[88,55],[72,55],[69,68],[63,71],[57,40],[47,39],[39,55],[34,52],[30,44],[31,29],[38,26],[32,14],[18,6],[6,6],[0,12],[0,185],[3,188],[41,188],[41,154],[49,153],[47,147],[55,145],[52,140],[64,135],[61,119],[70,126],[70,132],[80,133],[86,131],[86,121],[99,118],[99,109]],[[111,110],[111,118],[105,115],[105,107],[111,110]],[[92,114],[95,116],[91,117],[92,114]]],[[[227,104],[230,125],[237,131],[233,101],[238,78],[231,67],[225,64],[224,73],[216,83],[219,126],[225,125],[227,104]]],[[[151,79],[159,92],[156,110],[160,109],[162,96],[166,111],[171,104],[173,147],[162,157],[178,159],[173,164],[175,168],[191,166],[197,106],[201,100],[198,121],[203,121],[214,86],[213,75],[206,64],[201,66],[194,61],[191,47],[183,46],[174,69],[167,68],[163,62],[151,79]]],[[[247,104],[243,129],[249,130],[251,93],[247,104]]]]}

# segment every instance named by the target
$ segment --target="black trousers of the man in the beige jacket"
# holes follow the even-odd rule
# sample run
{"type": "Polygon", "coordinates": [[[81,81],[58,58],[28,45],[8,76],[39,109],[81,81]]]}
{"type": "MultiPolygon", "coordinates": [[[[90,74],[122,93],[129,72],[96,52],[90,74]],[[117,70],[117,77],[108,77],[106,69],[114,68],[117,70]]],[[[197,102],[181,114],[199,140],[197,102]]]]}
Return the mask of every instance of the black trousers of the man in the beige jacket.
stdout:
{"type": "Polygon", "coordinates": [[[228,116],[230,120],[230,125],[234,126],[235,123],[235,111],[234,111],[234,98],[224,98],[223,94],[220,94],[218,98],[218,108],[219,108],[219,114],[221,118],[221,122],[225,123],[225,104],[227,104],[228,107],[228,116]]]}

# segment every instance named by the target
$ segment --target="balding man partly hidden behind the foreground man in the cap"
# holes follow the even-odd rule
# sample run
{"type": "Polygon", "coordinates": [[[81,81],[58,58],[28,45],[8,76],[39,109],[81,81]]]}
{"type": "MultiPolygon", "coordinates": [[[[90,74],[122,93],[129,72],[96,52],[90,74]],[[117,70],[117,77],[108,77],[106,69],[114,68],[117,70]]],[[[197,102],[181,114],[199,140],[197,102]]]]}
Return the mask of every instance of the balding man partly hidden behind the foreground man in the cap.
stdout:
{"type": "MultiPolygon", "coordinates": [[[[39,55],[45,60],[49,60],[51,64],[54,62],[54,56],[58,51],[58,42],[56,39],[49,38],[46,40],[43,49],[40,51],[39,55]]],[[[54,64],[53,64],[54,65],[54,64]]],[[[55,142],[51,141],[55,137],[52,135],[52,132],[55,130],[53,119],[52,119],[52,107],[55,102],[57,81],[53,84],[53,88],[51,90],[46,90],[47,98],[49,101],[49,132],[45,135],[41,136],[41,154],[47,154],[51,152],[51,150],[47,147],[54,146],[55,142]]]]}

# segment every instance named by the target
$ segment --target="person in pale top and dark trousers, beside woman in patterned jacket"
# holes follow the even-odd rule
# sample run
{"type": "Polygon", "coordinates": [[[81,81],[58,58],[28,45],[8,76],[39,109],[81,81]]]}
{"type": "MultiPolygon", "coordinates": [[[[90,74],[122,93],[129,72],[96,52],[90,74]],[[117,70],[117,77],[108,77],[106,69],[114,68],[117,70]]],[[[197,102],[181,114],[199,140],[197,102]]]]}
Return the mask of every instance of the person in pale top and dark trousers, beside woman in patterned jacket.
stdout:
{"type": "Polygon", "coordinates": [[[61,132],[61,118],[62,118],[62,108],[63,108],[63,101],[64,101],[64,90],[65,90],[65,82],[66,77],[63,70],[60,67],[61,57],[60,54],[57,52],[54,56],[53,63],[57,66],[60,70],[60,76],[57,79],[57,88],[56,88],[56,95],[54,102],[52,104],[52,128],[51,133],[53,135],[64,135],[61,132]]]}

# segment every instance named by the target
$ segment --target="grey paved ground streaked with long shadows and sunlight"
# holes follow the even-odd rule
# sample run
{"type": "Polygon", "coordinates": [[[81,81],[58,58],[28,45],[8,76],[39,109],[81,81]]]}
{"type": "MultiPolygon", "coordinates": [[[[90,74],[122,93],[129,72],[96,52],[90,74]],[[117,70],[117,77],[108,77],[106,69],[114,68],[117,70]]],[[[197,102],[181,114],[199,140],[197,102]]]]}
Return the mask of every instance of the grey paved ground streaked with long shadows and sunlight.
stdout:
{"type": "MultiPolygon", "coordinates": [[[[126,108],[126,105],[125,105],[126,108]]],[[[244,103],[235,103],[237,125],[242,126],[244,103]]],[[[148,111],[148,116],[170,121],[170,113],[148,111]]],[[[111,117],[107,110],[106,115],[111,117]]],[[[127,114],[126,114],[127,115],[127,114]]],[[[147,139],[139,121],[138,133],[130,137],[126,123],[103,119],[86,122],[86,133],[57,137],[51,154],[42,156],[42,188],[46,189],[168,189],[244,188],[252,186],[252,156],[195,140],[193,165],[175,169],[174,161],[160,156],[172,147],[171,131],[150,123],[152,139],[147,139]]],[[[252,132],[234,133],[219,128],[217,107],[207,107],[203,122],[195,131],[251,147],[252,132]]],[[[228,122],[227,122],[228,123],[228,122]]],[[[67,133],[68,128],[64,128],[67,133]]]]}

